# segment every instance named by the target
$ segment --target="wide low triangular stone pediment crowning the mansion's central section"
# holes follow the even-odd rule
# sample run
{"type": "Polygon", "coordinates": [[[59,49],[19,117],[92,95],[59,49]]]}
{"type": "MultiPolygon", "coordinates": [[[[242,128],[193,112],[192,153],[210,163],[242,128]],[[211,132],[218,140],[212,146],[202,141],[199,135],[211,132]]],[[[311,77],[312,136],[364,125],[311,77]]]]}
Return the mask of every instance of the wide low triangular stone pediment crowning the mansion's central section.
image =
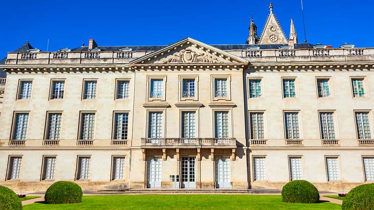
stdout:
{"type": "Polygon", "coordinates": [[[247,64],[248,61],[193,38],[184,38],[130,62],[131,65],[247,64]]]}

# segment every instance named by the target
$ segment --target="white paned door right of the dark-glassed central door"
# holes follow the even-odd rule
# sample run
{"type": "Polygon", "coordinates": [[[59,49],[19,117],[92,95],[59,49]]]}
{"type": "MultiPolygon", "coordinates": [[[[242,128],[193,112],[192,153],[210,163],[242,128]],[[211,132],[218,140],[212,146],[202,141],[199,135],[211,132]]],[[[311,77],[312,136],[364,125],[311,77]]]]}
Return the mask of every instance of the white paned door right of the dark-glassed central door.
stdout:
{"type": "Polygon", "coordinates": [[[216,182],[217,188],[231,187],[230,158],[217,158],[216,160],[216,182]]]}

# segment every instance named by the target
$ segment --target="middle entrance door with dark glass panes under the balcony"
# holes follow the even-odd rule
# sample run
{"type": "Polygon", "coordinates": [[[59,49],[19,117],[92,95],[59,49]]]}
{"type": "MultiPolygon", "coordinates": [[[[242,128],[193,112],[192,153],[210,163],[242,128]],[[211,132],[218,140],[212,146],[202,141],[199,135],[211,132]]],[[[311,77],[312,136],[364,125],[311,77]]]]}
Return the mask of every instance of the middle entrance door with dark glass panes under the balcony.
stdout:
{"type": "Polygon", "coordinates": [[[182,157],[182,187],[196,188],[195,180],[195,158],[182,157]]]}

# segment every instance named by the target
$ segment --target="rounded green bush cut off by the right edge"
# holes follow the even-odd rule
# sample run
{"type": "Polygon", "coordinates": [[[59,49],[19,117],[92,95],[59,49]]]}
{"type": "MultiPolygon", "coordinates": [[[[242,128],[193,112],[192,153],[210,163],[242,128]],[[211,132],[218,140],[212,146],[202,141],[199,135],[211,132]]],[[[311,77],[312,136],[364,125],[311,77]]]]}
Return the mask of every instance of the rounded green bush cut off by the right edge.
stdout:
{"type": "Polygon", "coordinates": [[[344,197],[342,209],[374,209],[374,183],[350,190],[344,197]]]}

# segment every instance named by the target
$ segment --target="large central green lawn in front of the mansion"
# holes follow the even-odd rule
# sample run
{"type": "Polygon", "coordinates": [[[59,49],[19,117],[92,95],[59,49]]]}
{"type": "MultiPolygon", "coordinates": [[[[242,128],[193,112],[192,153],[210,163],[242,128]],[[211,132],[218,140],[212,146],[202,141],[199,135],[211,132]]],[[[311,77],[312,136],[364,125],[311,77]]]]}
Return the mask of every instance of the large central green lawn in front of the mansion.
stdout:
{"type": "Polygon", "coordinates": [[[330,202],[283,203],[278,195],[107,195],[84,196],[82,203],[32,203],[27,209],[341,209],[330,202]]]}

